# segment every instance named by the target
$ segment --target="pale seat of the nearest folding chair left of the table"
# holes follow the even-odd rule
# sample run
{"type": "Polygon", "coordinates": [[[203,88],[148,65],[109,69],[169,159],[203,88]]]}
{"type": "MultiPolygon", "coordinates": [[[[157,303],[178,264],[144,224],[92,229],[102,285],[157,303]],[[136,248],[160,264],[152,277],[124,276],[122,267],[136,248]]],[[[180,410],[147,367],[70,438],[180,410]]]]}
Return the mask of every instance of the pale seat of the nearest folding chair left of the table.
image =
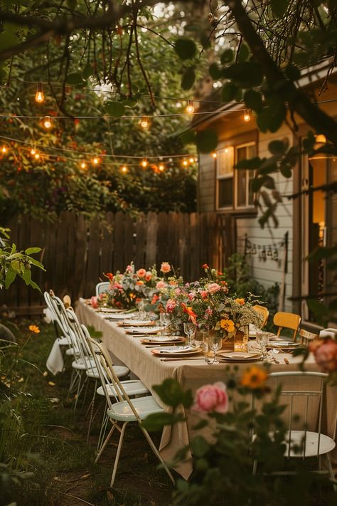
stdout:
{"type": "MultiPolygon", "coordinates": [[[[151,415],[152,413],[161,413],[164,411],[151,395],[132,399],[132,405],[141,420],[144,420],[146,416],[151,415]]],[[[107,410],[107,416],[115,421],[137,421],[137,418],[129,404],[127,404],[127,401],[113,404],[112,408],[107,410]]]]}

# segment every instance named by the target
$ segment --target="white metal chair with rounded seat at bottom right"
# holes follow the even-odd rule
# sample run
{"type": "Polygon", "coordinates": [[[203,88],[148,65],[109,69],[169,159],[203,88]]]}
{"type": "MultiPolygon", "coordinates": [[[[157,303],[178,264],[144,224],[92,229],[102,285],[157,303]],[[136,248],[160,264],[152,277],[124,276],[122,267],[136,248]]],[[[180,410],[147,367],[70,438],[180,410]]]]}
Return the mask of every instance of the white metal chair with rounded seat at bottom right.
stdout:
{"type": "MultiPolygon", "coordinates": [[[[276,387],[281,386],[281,404],[287,406],[287,432],[284,438],[286,449],[284,456],[290,458],[313,458],[319,460],[319,470],[316,473],[328,473],[333,483],[336,483],[333,475],[333,468],[329,458],[329,453],[335,448],[336,426],[333,437],[322,433],[322,412],[323,412],[323,394],[325,391],[325,381],[328,374],[322,372],[304,372],[304,371],[285,371],[272,372],[270,379],[276,381],[276,387]],[[296,380],[299,381],[299,388],[296,388],[296,380]],[[296,409],[301,413],[296,412],[296,409]],[[316,430],[309,431],[309,416],[315,413],[316,430]],[[300,416],[299,421],[296,419],[300,416]],[[295,427],[295,428],[294,428],[295,427]],[[326,458],[327,470],[321,468],[321,458],[326,458]]],[[[337,408],[336,408],[337,409],[337,408]]],[[[254,472],[256,472],[256,463],[254,472]]],[[[273,475],[294,474],[294,471],[280,470],[273,475]]]]}

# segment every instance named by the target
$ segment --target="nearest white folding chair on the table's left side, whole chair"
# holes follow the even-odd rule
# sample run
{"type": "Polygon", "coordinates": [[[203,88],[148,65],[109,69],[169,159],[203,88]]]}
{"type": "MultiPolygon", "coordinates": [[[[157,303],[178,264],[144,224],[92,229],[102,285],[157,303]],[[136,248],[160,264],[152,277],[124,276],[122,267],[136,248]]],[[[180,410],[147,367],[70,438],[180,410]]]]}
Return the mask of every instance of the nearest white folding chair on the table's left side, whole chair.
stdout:
{"type": "Polygon", "coordinates": [[[95,459],[95,463],[98,462],[98,460],[100,459],[103,451],[105,450],[105,447],[107,446],[107,443],[109,442],[109,439],[112,436],[112,433],[114,433],[114,430],[117,429],[117,431],[119,431],[120,433],[120,436],[116,457],[114,459],[112,478],[110,482],[110,487],[113,487],[119,457],[122,450],[125,429],[127,428],[128,423],[137,422],[139,428],[141,429],[142,433],[146,438],[146,441],[148,441],[151,450],[154,452],[154,455],[156,455],[156,458],[158,458],[158,460],[163,465],[172,483],[175,483],[169,468],[167,467],[166,463],[164,463],[164,460],[161,458],[161,455],[159,455],[159,451],[154,445],[154,442],[152,441],[149,433],[141,424],[141,421],[144,420],[144,418],[146,418],[146,416],[148,416],[149,414],[161,413],[164,410],[161,408],[161,406],[159,406],[159,404],[156,403],[154,397],[151,395],[146,397],[137,397],[136,399],[131,400],[127,392],[125,391],[122,382],[119,381],[116,374],[114,373],[109,353],[105,349],[104,345],[95,342],[93,339],[90,339],[90,343],[93,352],[97,355],[98,358],[97,360],[97,364],[99,364],[98,369],[100,371],[102,387],[103,390],[105,391],[105,398],[107,399],[107,406],[108,406],[107,416],[109,417],[109,421],[111,421],[112,423],[112,429],[109,431],[107,438],[105,438],[105,442],[102,444],[102,448],[100,449],[100,453],[98,453],[95,459]],[[112,404],[112,401],[106,389],[105,376],[109,377],[112,385],[114,386],[114,391],[117,394],[116,396],[117,402],[115,402],[114,404],[112,404]]]}

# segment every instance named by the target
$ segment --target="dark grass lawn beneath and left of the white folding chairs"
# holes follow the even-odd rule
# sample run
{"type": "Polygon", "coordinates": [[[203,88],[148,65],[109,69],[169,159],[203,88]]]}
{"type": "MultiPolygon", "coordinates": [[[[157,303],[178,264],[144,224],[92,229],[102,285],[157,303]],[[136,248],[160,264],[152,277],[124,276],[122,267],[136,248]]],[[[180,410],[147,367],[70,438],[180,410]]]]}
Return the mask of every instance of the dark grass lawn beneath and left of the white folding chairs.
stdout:
{"type": "MultiPolygon", "coordinates": [[[[16,370],[13,371],[12,360],[17,350],[6,349],[4,357],[1,357],[1,374],[12,389],[28,394],[23,401],[21,420],[24,434],[19,440],[20,444],[26,441],[26,446],[22,443],[22,451],[18,451],[18,468],[23,465],[32,473],[21,486],[13,487],[17,505],[169,505],[171,482],[164,470],[157,470],[157,460],[136,425],[128,427],[115,487],[109,489],[118,436],[112,438],[112,444],[106,448],[100,463],[95,464],[104,410],[104,403],[99,402],[101,399],[96,401],[96,407],[100,404],[101,407],[92,423],[89,443],[86,443],[88,416],[85,413],[92,399],[94,382],[90,383],[91,389],[87,391],[85,402],[82,402],[82,395],[74,412],[74,395],[68,398],[69,357],[63,374],[53,376],[46,371],[46,358],[55,339],[53,326],[41,321],[21,320],[15,333],[20,345],[16,370]],[[39,334],[28,330],[32,324],[40,327],[39,334]],[[6,373],[10,369],[12,378],[6,373]],[[33,436],[30,436],[31,433],[33,436]],[[28,463],[25,461],[26,448],[28,463]]],[[[5,423],[3,433],[4,428],[5,423]]],[[[12,432],[13,425],[10,424],[8,434],[12,432]]],[[[154,434],[156,444],[159,437],[159,434],[154,434]]],[[[4,438],[2,441],[6,444],[4,438]]],[[[8,437],[6,441],[8,443],[8,437]]],[[[0,493],[0,505],[7,503],[4,495],[1,499],[0,493]]]]}

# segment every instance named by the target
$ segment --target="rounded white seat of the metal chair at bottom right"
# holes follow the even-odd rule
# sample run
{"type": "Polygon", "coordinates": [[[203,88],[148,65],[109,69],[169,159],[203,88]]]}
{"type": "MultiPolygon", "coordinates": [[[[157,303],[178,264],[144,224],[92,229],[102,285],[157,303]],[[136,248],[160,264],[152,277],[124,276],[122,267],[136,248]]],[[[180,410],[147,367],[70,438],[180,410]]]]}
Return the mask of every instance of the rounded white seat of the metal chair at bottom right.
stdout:
{"type": "MultiPolygon", "coordinates": [[[[290,457],[315,457],[317,455],[324,455],[325,453],[331,452],[333,448],[335,448],[336,443],[332,438],[326,436],[325,434],[321,434],[319,436],[318,432],[309,432],[306,433],[304,431],[291,431],[291,450],[290,457]],[[306,434],[306,442],[305,442],[305,453],[304,453],[304,435],[306,434]],[[292,448],[293,446],[297,446],[299,448],[299,452],[295,452],[292,448]]],[[[289,431],[286,433],[284,443],[287,445],[287,449],[284,452],[284,455],[288,455],[289,448],[289,431]]]]}

